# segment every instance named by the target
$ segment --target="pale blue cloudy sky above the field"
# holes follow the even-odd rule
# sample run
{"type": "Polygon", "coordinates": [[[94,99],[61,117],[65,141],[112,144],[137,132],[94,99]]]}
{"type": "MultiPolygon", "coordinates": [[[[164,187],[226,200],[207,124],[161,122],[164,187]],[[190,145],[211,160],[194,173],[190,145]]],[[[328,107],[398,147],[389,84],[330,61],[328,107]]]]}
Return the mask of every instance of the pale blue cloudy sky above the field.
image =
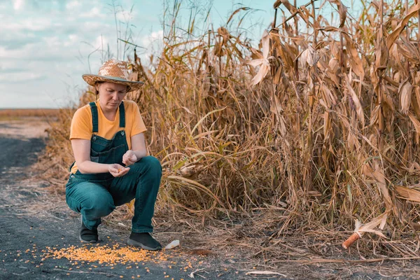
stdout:
{"type": "MultiPolygon", "coordinates": [[[[127,22],[131,41],[143,47],[138,49],[143,61],[158,54],[164,8],[174,2],[179,1],[0,0],[0,109],[73,106],[87,89],[81,76],[97,73],[104,61],[102,50],[109,47],[113,58],[123,59],[123,43],[117,44],[117,38],[125,38],[127,22]]],[[[306,2],[297,0],[298,5],[306,2]]],[[[217,29],[232,11],[246,6],[252,10],[242,26],[256,44],[274,18],[273,3],[183,0],[180,25],[188,22],[192,6],[199,29],[207,29],[209,22],[217,29]],[[209,20],[204,22],[210,5],[209,20]]]]}

